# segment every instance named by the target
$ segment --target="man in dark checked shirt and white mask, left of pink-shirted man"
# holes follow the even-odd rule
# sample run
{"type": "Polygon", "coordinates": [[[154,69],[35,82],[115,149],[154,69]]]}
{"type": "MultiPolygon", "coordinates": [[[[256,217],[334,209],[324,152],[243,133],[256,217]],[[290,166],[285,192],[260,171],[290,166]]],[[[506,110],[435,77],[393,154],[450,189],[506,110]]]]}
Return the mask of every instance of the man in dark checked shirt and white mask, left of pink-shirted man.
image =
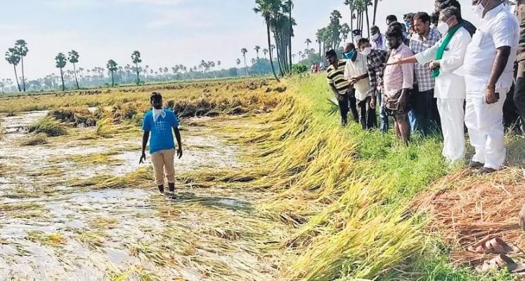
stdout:
{"type": "MultiPolygon", "coordinates": [[[[385,37],[386,41],[386,37],[385,37]]],[[[384,42],[385,44],[387,42],[384,42]]],[[[383,72],[384,64],[387,63],[388,52],[386,50],[372,49],[370,41],[366,38],[361,38],[357,44],[357,48],[361,53],[367,56],[368,78],[370,79],[370,107],[375,107],[377,104],[380,108],[380,129],[381,132],[387,132],[389,128],[388,116],[382,107],[382,93],[383,93],[383,72]],[[377,100],[377,102],[376,102],[377,100]]]]}

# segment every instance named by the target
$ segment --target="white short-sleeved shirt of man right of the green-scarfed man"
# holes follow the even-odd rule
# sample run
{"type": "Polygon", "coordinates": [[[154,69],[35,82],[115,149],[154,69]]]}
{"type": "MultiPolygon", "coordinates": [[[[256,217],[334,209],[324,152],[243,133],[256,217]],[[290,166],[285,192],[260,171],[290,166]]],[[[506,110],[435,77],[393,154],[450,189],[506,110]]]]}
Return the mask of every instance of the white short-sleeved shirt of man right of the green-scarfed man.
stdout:
{"type": "Polygon", "coordinates": [[[465,55],[465,83],[468,96],[485,95],[496,49],[503,46],[510,46],[510,56],[495,88],[510,88],[514,76],[518,41],[518,20],[506,5],[500,4],[485,14],[479,29],[472,36],[465,55]]]}

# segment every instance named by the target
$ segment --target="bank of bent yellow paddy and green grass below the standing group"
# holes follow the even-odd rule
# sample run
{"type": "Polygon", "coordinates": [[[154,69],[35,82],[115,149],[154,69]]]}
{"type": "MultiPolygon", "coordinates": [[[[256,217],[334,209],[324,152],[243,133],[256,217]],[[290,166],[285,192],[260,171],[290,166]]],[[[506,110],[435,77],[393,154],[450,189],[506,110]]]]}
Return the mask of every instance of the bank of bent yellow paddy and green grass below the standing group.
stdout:
{"type": "Polygon", "coordinates": [[[417,193],[451,172],[439,137],[415,136],[407,148],[360,125],[342,130],[327,114],[324,81],[287,81],[289,94],[258,121],[265,129],[232,139],[263,149],[252,159],[257,164],[223,177],[197,172],[186,181],[252,179],[254,189],[277,192],[259,215],[294,228],[281,245],[290,256],[281,267],[286,279],[512,280],[453,268],[447,247],[424,232],[428,218],[409,209],[417,193]]]}

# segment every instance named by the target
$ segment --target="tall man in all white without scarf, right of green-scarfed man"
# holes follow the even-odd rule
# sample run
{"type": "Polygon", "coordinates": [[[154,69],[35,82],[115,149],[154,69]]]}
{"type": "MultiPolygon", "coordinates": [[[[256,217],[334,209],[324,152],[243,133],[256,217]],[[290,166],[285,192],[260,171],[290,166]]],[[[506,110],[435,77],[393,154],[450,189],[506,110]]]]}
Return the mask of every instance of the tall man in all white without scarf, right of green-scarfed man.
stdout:
{"type": "Polygon", "coordinates": [[[465,55],[465,125],[476,149],[471,167],[485,174],[505,162],[503,104],[513,81],[519,25],[501,0],[473,0],[472,5],[481,25],[465,55]]]}

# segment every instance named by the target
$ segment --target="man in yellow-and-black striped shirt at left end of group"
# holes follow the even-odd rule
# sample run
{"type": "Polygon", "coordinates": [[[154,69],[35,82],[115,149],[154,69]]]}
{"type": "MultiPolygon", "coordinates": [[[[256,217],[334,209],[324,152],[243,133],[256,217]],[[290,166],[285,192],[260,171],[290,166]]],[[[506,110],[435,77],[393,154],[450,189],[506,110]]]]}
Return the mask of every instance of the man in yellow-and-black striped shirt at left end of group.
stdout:
{"type": "Polygon", "coordinates": [[[335,50],[326,52],[326,60],[330,64],[326,69],[326,77],[330,89],[337,98],[339,103],[339,111],[341,113],[341,123],[345,127],[348,124],[348,113],[351,110],[354,121],[359,122],[359,117],[356,107],[356,96],[353,89],[350,87],[348,80],[344,78],[344,67],[346,60],[338,60],[335,50]],[[350,108],[349,108],[350,107],[350,108]]]}

